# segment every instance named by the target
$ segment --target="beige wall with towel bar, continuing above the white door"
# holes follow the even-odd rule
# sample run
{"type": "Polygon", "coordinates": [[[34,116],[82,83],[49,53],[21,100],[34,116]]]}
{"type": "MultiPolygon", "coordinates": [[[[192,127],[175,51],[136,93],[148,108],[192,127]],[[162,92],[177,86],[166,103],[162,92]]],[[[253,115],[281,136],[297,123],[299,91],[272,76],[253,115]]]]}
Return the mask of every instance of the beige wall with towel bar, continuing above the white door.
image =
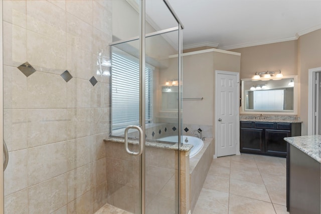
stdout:
{"type": "MultiPolygon", "coordinates": [[[[240,72],[240,56],[208,52],[183,57],[183,123],[213,126],[215,70],[240,72]]],[[[214,136],[214,135],[213,135],[214,136]]]]}

